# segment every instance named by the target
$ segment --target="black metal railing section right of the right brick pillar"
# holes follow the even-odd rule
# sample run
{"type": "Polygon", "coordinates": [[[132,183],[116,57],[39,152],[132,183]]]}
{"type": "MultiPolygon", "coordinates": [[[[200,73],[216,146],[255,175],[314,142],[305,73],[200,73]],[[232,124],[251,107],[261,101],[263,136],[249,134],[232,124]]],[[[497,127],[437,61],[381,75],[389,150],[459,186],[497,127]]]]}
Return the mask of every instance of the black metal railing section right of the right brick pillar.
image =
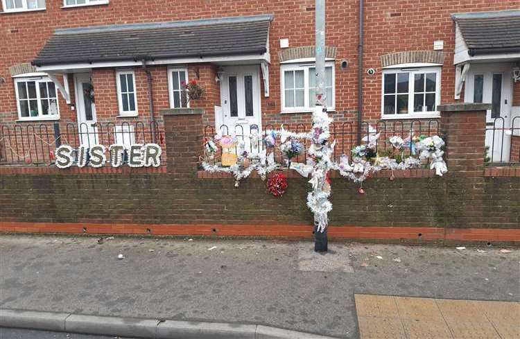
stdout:
{"type": "Polygon", "coordinates": [[[520,116],[488,121],[485,143],[487,164],[520,164],[520,116]]]}

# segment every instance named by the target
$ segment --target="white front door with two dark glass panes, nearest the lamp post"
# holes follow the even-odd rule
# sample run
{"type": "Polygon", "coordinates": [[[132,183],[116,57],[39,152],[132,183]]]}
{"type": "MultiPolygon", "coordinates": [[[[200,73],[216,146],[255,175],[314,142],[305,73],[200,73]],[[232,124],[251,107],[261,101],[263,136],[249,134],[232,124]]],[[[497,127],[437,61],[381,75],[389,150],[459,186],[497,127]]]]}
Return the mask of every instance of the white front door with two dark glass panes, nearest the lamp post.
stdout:
{"type": "MultiPolygon", "coordinates": [[[[248,136],[250,130],[261,130],[261,93],[259,65],[224,67],[220,84],[223,125],[221,134],[248,136]],[[227,127],[227,128],[226,128],[227,127]]],[[[248,139],[248,138],[245,138],[248,139]]]]}

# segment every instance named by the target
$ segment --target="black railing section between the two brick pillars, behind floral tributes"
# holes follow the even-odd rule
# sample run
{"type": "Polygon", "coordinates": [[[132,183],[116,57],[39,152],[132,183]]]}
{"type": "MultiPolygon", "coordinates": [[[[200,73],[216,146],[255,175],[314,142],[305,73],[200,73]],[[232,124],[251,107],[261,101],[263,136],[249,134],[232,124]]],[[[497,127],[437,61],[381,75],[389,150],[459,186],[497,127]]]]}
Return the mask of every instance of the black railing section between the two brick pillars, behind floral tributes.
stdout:
{"type": "MultiPolygon", "coordinates": [[[[258,125],[250,125],[247,130],[243,127],[243,125],[235,125],[230,128],[227,125],[220,125],[218,128],[218,133],[211,125],[206,125],[204,129],[205,138],[213,138],[216,134],[220,135],[234,135],[239,141],[244,141],[245,151],[250,152],[252,150],[252,145],[250,142],[246,142],[250,139],[250,135],[254,132],[261,134],[262,137],[265,137],[269,130],[275,130],[276,128],[280,128],[279,125],[266,125],[263,130],[259,128],[258,125]],[[261,131],[261,132],[260,132],[261,131]]],[[[309,132],[311,131],[310,124],[297,123],[297,124],[287,124],[284,125],[284,129],[289,130],[291,132],[300,133],[300,132],[309,132]]],[[[350,151],[358,145],[358,131],[356,128],[356,124],[354,122],[344,122],[344,123],[331,123],[330,126],[331,138],[330,141],[336,141],[336,146],[333,150],[333,159],[339,160],[341,155],[349,155],[350,151]]],[[[397,135],[402,139],[407,139],[410,135],[419,137],[421,135],[425,135],[427,137],[431,137],[435,134],[440,134],[440,125],[438,119],[428,119],[428,120],[390,120],[390,121],[375,121],[375,122],[367,122],[364,121],[361,125],[361,135],[359,136],[362,141],[361,144],[366,144],[367,141],[370,140],[371,137],[375,137],[376,134],[380,134],[379,139],[374,141],[375,150],[377,151],[385,151],[392,148],[392,146],[388,143],[388,138],[397,135]]],[[[262,138],[260,138],[257,149],[261,146],[262,138]]],[[[311,141],[309,140],[300,140],[303,147],[303,152],[301,155],[297,156],[295,161],[304,162],[307,157],[307,151],[309,150],[309,146],[311,145],[311,141]]],[[[412,142],[409,140],[408,142],[412,142]]],[[[275,159],[278,161],[281,160],[282,155],[279,150],[280,140],[276,139],[275,147],[272,151],[275,153],[275,159]]],[[[238,153],[239,150],[236,148],[235,153],[238,153]]],[[[220,157],[220,148],[218,150],[218,154],[216,159],[220,157]]],[[[411,148],[408,147],[405,150],[405,155],[410,154],[411,148]]],[[[238,155],[238,154],[237,154],[238,155]]]]}

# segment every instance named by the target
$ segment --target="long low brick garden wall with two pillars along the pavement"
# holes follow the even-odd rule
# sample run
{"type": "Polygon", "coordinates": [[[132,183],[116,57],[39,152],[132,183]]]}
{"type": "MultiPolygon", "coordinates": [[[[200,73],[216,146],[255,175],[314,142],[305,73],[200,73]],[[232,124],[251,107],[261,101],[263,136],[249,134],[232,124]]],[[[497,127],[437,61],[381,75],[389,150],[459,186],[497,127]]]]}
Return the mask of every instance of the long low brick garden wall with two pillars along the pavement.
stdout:
{"type": "MultiPolygon", "coordinates": [[[[520,242],[520,168],[484,168],[485,110],[444,105],[449,173],[382,171],[358,186],[332,173],[329,235],[393,241],[520,242]]],[[[484,107],[485,108],[485,107],[484,107]]],[[[195,112],[195,110],[193,110],[195,112]]],[[[311,237],[309,186],[281,198],[252,177],[198,171],[201,114],[165,115],[161,168],[0,168],[0,231],[311,237]]]]}

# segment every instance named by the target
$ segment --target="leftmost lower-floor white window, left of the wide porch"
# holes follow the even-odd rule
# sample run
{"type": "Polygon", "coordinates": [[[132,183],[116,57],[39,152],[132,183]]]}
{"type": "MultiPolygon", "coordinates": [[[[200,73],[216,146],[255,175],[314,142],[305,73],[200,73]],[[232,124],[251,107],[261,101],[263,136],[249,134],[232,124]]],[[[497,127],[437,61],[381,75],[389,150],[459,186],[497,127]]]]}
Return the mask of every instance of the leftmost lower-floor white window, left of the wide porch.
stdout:
{"type": "Polygon", "coordinates": [[[58,92],[49,78],[17,78],[15,92],[20,120],[60,119],[58,92]]]}

